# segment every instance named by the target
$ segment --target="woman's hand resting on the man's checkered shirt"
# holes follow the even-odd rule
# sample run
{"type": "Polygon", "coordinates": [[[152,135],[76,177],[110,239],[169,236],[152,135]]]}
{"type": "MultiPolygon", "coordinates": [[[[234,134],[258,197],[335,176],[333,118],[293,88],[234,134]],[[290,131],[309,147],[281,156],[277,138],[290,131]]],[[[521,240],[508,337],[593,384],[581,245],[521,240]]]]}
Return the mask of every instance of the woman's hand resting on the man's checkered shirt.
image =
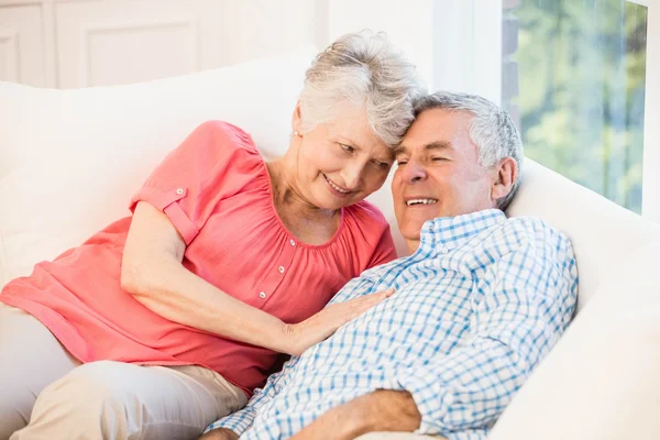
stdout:
{"type": "Polygon", "coordinates": [[[299,356],[305,350],[323,341],[341,326],[358,318],[392,295],[394,295],[394,288],[388,288],[350,301],[332,304],[302,322],[287,324],[286,333],[289,340],[287,352],[299,356]]]}

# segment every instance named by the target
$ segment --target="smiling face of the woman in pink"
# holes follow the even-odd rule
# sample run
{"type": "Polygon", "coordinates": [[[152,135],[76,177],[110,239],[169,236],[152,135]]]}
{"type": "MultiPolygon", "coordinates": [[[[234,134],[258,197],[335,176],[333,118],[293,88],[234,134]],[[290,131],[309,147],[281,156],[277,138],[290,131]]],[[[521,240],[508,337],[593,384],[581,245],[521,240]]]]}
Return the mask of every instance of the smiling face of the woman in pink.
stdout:
{"type": "Polygon", "coordinates": [[[383,186],[394,162],[392,150],[369,129],[364,109],[345,106],[338,114],[293,139],[299,190],[321,209],[363,200],[383,186]]]}

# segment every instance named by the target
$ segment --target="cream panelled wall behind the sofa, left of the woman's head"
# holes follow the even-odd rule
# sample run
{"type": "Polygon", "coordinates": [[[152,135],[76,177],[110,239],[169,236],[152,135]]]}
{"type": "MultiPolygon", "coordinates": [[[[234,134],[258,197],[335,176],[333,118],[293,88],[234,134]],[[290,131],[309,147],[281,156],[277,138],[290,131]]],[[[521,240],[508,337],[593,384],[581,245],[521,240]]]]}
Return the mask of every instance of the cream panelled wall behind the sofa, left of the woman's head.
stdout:
{"type": "Polygon", "coordinates": [[[0,0],[0,80],[77,88],[316,44],[318,1],[0,0]]]}

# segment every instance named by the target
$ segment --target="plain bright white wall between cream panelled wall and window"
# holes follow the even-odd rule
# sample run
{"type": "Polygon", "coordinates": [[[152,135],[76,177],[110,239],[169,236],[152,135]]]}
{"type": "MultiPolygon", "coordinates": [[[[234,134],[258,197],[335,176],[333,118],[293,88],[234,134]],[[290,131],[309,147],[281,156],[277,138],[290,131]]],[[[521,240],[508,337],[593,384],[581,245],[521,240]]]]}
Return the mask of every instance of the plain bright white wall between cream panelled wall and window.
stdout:
{"type": "Polygon", "coordinates": [[[363,28],[387,32],[430,90],[502,100],[502,0],[331,0],[326,44],[363,28]],[[484,74],[487,73],[487,74],[484,74]]]}

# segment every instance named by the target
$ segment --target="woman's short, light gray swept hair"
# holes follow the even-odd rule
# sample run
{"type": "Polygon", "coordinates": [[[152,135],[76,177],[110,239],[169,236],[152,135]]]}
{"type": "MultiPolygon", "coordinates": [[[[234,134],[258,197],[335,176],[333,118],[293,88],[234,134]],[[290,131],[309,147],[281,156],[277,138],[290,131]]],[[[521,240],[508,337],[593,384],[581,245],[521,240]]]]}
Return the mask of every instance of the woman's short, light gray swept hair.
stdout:
{"type": "Polygon", "coordinates": [[[301,131],[339,117],[341,103],[364,107],[372,132],[398,145],[426,95],[415,65],[387,36],[369,30],[340,36],[307,69],[300,92],[301,131]]]}

